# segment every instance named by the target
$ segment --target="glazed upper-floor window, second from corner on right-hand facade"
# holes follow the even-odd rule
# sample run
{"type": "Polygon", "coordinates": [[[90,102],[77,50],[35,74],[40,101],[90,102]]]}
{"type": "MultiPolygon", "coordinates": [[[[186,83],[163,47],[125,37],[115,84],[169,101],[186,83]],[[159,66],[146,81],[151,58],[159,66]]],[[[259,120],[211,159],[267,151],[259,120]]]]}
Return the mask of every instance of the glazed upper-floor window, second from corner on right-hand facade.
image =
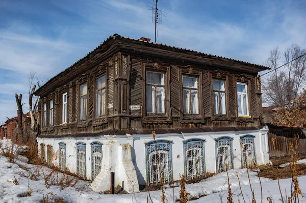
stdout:
{"type": "Polygon", "coordinates": [[[184,114],[198,114],[197,78],[183,76],[183,111],[184,114]]]}

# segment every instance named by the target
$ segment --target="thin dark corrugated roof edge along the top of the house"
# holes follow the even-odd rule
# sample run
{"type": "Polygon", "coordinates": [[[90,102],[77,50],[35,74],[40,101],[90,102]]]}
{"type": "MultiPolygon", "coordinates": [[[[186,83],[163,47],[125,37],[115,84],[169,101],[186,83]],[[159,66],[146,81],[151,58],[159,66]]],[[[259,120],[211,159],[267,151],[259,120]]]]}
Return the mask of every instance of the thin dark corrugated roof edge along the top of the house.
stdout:
{"type": "MultiPolygon", "coordinates": [[[[94,50],[92,50],[91,52],[89,52],[88,54],[86,54],[86,56],[84,56],[83,58],[79,59],[77,62],[74,62],[72,65],[70,65],[67,69],[63,70],[62,72],[58,73],[57,75],[55,75],[54,77],[50,78],[47,82],[45,82],[40,88],[37,89],[36,92],[40,91],[42,89],[43,86],[45,86],[47,83],[51,82],[52,80],[54,80],[56,77],[58,77],[59,75],[63,74],[64,72],[66,72],[67,70],[71,69],[75,64],[79,63],[80,61],[82,61],[83,59],[85,59],[86,57],[88,57],[91,53],[93,53],[94,51],[96,51],[98,48],[100,48],[101,46],[103,46],[107,41],[109,41],[110,39],[115,39],[116,37],[120,37],[123,39],[129,39],[132,41],[142,41],[142,42],[146,42],[146,43],[151,43],[151,44],[156,44],[158,46],[163,46],[163,47],[169,47],[169,48],[174,48],[177,50],[182,50],[182,51],[188,51],[188,52],[194,52],[194,53],[198,53],[198,54],[202,54],[202,55],[206,55],[206,56],[211,56],[211,57],[217,57],[217,58],[222,58],[222,59],[228,59],[228,60],[232,60],[232,61],[236,61],[236,62],[241,62],[241,63],[245,63],[245,64],[250,64],[250,65],[256,65],[259,67],[262,67],[263,70],[267,70],[270,69],[267,66],[264,65],[259,65],[259,64],[255,64],[255,63],[249,63],[249,62],[245,62],[245,61],[241,61],[241,60],[236,60],[236,59],[232,59],[232,58],[226,58],[226,57],[222,57],[222,56],[217,56],[217,55],[212,55],[212,54],[206,54],[203,52],[198,52],[198,51],[194,51],[194,50],[190,50],[190,49],[184,49],[184,48],[180,48],[180,47],[174,47],[174,46],[169,46],[167,44],[162,44],[162,43],[155,43],[155,42],[151,42],[151,41],[144,41],[141,39],[133,39],[130,37],[123,37],[121,35],[118,34],[114,34],[109,36],[109,38],[107,38],[105,41],[101,42],[100,45],[98,47],[96,47],[94,50]]],[[[36,93],[35,92],[35,93],[36,93]]]]}

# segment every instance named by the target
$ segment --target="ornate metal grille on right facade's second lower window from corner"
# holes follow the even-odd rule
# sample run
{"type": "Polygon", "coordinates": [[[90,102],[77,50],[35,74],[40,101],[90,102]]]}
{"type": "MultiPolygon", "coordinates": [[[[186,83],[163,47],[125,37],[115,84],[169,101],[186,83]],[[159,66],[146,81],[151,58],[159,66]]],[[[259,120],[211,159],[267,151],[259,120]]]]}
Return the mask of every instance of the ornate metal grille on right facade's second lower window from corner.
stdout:
{"type": "Polygon", "coordinates": [[[184,142],[184,161],[186,179],[205,176],[204,140],[192,139],[184,142]]]}

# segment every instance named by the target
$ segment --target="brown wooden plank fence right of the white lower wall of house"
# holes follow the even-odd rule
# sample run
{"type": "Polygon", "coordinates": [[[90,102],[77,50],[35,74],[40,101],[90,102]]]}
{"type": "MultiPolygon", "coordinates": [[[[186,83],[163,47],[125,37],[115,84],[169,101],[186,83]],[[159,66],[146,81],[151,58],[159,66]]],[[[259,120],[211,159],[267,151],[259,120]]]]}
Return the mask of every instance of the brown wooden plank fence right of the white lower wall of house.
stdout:
{"type": "MultiPolygon", "coordinates": [[[[290,143],[294,143],[293,137],[276,136],[275,134],[268,133],[268,144],[269,144],[269,156],[273,157],[285,157],[290,155],[290,143]],[[273,146],[273,141],[275,149],[273,146]]],[[[306,139],[298,139],[299,155],[306,154],[306,139]]]]}

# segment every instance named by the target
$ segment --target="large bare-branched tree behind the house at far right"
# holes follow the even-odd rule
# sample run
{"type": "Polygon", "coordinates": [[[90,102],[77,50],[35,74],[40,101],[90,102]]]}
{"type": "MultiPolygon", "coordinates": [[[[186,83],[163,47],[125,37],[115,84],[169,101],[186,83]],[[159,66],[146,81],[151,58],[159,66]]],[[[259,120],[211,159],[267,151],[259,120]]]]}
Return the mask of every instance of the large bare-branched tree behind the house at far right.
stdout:
{"type": "Polygon", "coordinates": [[[306,79],[306,56],[292,60],[304,53],[306,50],[296,44],[292,44],[283,54],[278,48],[270,52],[266,65],[272,72],[262,78],[263,102],[274,106],[288,105],[289,109],[294,105],[294,99],[302,90],[306,79]],[[288,64],[277,69],[284,63],[288,64]]]}

